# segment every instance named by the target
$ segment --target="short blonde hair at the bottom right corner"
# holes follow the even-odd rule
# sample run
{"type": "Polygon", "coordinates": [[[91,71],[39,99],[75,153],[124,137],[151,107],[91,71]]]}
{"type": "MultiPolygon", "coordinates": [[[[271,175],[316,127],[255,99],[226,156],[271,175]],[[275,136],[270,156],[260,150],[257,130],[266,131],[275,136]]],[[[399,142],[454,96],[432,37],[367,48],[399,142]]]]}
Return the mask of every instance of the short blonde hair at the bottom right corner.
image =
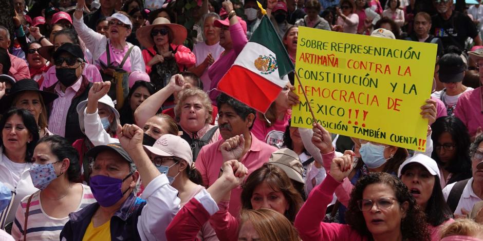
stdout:
{"type": "Polygon", "coordinates": [[[471,237],[483,238],[483,225],[473,221],[473,219],[456,219],[451,224],[444,225],[440,229],[441,238],[453,235],[466,235],[471,237]]]}

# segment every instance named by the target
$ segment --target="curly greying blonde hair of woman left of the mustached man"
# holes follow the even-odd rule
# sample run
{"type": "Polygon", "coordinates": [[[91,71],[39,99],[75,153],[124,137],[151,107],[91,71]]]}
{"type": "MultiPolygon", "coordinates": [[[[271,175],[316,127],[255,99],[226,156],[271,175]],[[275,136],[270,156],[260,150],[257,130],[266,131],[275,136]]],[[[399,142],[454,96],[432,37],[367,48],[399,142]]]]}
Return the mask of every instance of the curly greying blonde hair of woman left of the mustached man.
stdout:
{"type": "Polygon", "coordinates": [[[181,118],[181,108],[183,105],[182,103],[191,96],[198,96],[200,98],[201,104],[203,105],[203,107],[205,107],[207,112],[205,124],[211,123],[213,121],[213,117],[211,116],[213,114],[213,107],[211,106],[210,97],[208,97],[208,94],[205,91],[198,88],[184,89],[179,92],[178,103],[176,103],[176,106],[174,106],[176,122],[179,122],[181,118]]]}

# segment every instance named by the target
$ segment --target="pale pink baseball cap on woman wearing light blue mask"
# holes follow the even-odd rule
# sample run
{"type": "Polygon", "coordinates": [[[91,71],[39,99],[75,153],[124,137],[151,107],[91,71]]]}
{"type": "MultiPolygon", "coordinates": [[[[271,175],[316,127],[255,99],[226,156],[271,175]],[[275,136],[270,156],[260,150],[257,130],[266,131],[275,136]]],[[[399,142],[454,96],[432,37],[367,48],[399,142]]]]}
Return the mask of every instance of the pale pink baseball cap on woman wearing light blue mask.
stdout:
{"type": "Polygon", "coordinates": [[[152,147],[144,145],[144,150],[158,156],[174,156],[185,160],[188,166],[193,164],[193,152],[190,145],[183,138],[164,134],[156,140],[152,147]]]}

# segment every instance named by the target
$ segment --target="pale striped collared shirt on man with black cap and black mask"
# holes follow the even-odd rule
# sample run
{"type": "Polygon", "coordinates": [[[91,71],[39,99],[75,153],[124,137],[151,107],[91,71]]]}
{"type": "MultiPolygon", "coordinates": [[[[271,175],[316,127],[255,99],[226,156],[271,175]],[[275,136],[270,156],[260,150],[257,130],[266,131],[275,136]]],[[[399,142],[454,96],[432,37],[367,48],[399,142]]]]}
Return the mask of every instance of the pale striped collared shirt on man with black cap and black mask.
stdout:
{"type": "Polygon", "coordinates": [[[77,91],[81,88],[82,75],[77,79],[77,82],[72,86],[65,89],[65,93],[62,92],[61,83],[55,85],[54,91],[59,95],[59,98],[55,99],[52,104],[52,111],[49,118],[49,130],[62,137],[65,136],[65,123],[67,121],[67,114],[69,112],[72,99],[76,96],[77,91]]]}

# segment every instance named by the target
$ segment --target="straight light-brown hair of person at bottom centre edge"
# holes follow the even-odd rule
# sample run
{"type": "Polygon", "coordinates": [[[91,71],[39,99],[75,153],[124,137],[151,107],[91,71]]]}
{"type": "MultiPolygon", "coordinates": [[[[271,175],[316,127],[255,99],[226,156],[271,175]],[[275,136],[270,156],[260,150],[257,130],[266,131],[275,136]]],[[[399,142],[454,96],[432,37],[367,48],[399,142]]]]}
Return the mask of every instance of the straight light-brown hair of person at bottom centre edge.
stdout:
{"type": "Polygon", "coordinates": [[[242,209],[240,229],[250,222],[261,241],[286,240],[300,241],[299,233],[282,214],[272,209],[242,209]]]}

